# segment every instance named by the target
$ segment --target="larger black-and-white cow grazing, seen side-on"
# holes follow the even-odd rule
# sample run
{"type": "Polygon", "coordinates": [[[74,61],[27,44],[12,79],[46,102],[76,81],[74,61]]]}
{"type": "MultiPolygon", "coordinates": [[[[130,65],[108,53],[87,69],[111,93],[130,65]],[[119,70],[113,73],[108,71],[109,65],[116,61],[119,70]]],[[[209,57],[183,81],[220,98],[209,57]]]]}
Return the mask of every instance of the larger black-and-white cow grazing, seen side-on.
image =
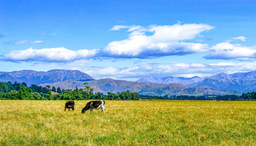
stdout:
{"type": "Polygon", "coordinates": [[[84,113],[87,110],[91,110],[91,113],[93,113],[93,109],[99,109],[101,108],[101,112],[105,113],[105,101],[90,101],[86,104],[86,106],[83,108],[82,113],[84,113]]]}

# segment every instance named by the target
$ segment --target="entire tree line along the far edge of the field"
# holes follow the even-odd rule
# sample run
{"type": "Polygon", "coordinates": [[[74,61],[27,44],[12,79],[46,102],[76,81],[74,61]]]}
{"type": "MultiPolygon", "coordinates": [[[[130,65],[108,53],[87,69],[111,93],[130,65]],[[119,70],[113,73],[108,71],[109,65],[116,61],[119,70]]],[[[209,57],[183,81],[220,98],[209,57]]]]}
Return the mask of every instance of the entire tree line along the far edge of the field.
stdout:
{"type": "Polygon", "coordinates": [[[242,95],[223,95],[223,96],[188,96],[188,95],[173,95],[164,96],[158,95],[139,95],[136,92],[110,93],[104,95],[100,92],[93,93],[94,90],[84,82],[84,89],[57,89],[50,88],[49,85],[41,87],[38,85],[31,85],[27,87],[25,82],[21,84],[18,82],[0,82],[0,99],[7,100],[89,100],[89,99],[105,99],[105,100],[139,100],[139,99],[169,99],[169,100],[255,100],[256,92],[242,93],[242,95]],[[57,92],[58,94],[52,94],[57,92]]]}

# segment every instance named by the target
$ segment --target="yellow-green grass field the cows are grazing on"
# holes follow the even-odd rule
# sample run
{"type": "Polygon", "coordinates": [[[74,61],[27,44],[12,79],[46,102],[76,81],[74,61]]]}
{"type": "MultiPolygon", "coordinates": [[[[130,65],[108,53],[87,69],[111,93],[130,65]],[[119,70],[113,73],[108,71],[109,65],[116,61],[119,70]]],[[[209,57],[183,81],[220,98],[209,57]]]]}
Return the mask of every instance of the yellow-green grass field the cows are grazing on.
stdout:
{"type": "Polygon", "coordinates": [[[256,146],[255,101],[65,102],[1,100],[0,145],[256,146]]]}

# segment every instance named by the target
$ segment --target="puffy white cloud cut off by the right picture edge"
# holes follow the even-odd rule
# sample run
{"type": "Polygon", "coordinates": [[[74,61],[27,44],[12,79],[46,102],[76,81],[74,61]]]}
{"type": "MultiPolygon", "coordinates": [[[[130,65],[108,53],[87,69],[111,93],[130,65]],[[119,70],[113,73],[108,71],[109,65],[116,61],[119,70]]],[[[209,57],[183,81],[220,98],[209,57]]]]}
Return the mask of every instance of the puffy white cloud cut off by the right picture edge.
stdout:
{"type": "Polygon", "coordinates": [[[227,41],[213,45],[209,49],[212,50],[212,52],[204,56],[206,59],[252,61],[256,58],[256,46],[231,44],[227,41]]]}

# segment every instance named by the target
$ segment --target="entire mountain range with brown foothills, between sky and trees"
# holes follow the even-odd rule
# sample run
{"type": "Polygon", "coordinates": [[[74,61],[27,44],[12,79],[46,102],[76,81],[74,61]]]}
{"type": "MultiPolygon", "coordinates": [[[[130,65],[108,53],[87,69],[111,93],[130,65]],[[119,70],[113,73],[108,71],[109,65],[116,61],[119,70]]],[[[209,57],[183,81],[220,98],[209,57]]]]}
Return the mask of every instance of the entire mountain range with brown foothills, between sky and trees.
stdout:
{"type": "Polygon", "coordinates": [[[0,81],[31,84],[61,89],[84,88],[83,83],[89,82],[95,92],[117,93],[129,90],[144,95],[223,95],[239,94],[240,92],[256,91],[256,71],[247,73],[219,73],[212,77],[144,77],[136,82],[113,80],[110,78],[94,80],[93,77],[78,70],[54,69],[47,72],[20,70],[0,72],[0,81]]]}

